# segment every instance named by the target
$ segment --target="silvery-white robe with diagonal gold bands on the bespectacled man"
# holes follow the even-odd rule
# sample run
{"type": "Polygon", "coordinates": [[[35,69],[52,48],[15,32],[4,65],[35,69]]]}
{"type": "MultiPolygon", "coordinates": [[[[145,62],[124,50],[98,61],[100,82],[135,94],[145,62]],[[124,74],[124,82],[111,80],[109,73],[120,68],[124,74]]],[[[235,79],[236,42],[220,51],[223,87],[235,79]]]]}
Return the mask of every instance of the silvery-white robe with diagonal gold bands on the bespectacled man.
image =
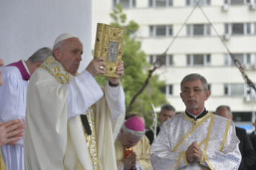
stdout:
{"type": "Polygon", "coordinates": [[[157,170],[235,170],[241,162],[239,142],[230,119],[208,112],[194,122],[184,113],[161,126],[151,146],[150,160],[157,170]],[[203,152],[200,163],[186,160],[185,151],[193,142],[197,142],[203,152]]]}

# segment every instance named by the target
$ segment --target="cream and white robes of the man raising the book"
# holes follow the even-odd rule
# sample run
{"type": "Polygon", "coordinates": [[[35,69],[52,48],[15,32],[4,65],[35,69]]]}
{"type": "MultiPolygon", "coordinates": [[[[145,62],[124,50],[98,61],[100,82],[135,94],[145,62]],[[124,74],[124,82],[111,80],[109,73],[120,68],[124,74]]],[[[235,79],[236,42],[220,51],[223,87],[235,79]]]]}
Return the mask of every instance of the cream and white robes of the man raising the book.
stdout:
{"type": "Polygon", "coordinates": [[[118,121],[124,119],[124,109],[113,121],[113,109],[108,108],[113,104],[109,101],[108,87],[101,89],[90,76],[82,72],[74,78],[53,57],[32,75],[26,107],[26,170],[116,169],[113,138],[116,128],[120,129],[118,121]],[[73,79],[83,88],[79,89],[80,85],[73,79]],[[73,87],[69,87],[72,81],[73,87]],[[79,98],[79,93],[85,93],[87,97],[79,98]],[[87,115],[91,136],[83,127],[81,114],[87,115]],[[105,127],[103,131],[102,125],[105,127]],[[99,140],[104,140],[104,144],[99,140]]]}

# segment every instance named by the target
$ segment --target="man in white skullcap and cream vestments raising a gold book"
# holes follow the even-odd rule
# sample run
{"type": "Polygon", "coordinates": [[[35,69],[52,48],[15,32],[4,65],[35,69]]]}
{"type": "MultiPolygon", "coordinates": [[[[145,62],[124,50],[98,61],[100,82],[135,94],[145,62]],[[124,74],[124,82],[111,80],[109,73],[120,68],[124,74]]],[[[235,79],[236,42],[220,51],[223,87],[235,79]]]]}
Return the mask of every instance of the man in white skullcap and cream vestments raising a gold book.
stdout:
{"type": "MultiPolygon", "coordinates": [[[[28,86],[26,170],[116,170],[114,142],[125,110],[120,80],[96,83],[94,76],[105,72],[104,58],[78,75],[83,44],[75,35],[56,38],[53,54],[28,86]]],[[[116,74],[124,74],[123,62],[116,74]]]]}

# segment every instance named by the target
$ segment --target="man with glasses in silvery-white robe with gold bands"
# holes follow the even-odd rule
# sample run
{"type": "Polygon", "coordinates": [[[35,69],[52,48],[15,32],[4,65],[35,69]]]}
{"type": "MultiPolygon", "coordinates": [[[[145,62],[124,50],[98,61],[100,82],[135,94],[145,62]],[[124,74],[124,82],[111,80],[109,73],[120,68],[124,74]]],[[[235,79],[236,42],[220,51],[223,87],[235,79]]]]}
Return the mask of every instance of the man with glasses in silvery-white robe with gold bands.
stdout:
{"type": "Polygon", "coordinates": [[[197,74],[181,81],[181,99],[186,111],[169,119],[151,147],[154,169],[239,168],[241,154],[234,123],[205,110],[209,98],[207,81],[197,74]]]}

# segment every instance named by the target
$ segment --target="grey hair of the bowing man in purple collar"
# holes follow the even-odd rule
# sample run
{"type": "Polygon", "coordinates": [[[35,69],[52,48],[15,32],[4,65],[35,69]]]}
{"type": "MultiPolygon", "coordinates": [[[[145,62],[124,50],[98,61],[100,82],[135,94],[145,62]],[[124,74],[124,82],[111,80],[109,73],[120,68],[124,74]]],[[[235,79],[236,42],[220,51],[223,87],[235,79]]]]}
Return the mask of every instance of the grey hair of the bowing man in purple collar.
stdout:
{"type": "Polygon", "coordinates": [[[35,53],[31,55],[30,58],[27,59],[27,61],[29,61],[32,64],[38,62],[43,63],[48,57],[51,56],[51,53],[51,48],[43,47],[40,48],[38,51],[35,51],[35,53]]]}

